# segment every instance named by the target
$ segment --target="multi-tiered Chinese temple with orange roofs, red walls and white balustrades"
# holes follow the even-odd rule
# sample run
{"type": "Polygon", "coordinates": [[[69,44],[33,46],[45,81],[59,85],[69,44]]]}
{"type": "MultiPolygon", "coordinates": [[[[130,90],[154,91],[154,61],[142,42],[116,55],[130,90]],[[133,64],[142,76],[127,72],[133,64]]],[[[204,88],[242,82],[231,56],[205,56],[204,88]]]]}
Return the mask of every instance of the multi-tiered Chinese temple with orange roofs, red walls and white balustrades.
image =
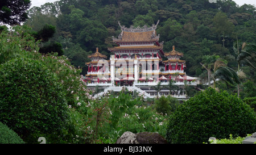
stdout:
{"type": "Polygon", "coordinates": [[[85,80],[88,89],[98,85],[104,89],[98,94],[102,95],[107,91],[120,91],[122,87],[127,87],[130,91],[143,93],[145,98],[169,95],[170,92],[173,97],[186,98],[182,89],[170,91],[163,88],[159,94],[152,89],[158,82],[161,86],[168,85],[171,79],[181,88],[185,81],[195,86],[199,82],[197,78],[185,74],[185,60],[180,60],[183,53],[175,51],[175,46],[171,52],[163,52],[163,42],[159,43],[159,35],[156,34],[158,23],[151,27],[126,28],[118,22],[122,32],[118,38],[113,37],[117,46],[108,48],[112,53],[110,60],[106,60],[98,48],[96,53],[88,56],[91,59],[86,62],[88,74],[85,80]],[[163,57],[167,60],[163,60],[163,57]]]}

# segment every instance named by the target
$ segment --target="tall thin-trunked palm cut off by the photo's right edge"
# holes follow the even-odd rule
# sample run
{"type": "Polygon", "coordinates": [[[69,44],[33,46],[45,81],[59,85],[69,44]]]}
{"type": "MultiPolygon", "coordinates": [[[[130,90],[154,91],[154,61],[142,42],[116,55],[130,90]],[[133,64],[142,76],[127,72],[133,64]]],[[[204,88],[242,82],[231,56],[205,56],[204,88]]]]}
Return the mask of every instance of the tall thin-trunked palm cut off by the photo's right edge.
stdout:
{"type": "MultiPolygon", "coordinates": [[[[237,39],[237,48],[233,47],[234,53],[236,54],[237,61],[237,73],[240,73],[240,66],[249,65],[251,68],[255,69],[255,56],[256,56],[256,45],[253,44],[242,44],[242,49],[239,51],[238,39],[237,39]]],[[[240,96],[240,85],[237,85],[237,95],[240,96]]]]}

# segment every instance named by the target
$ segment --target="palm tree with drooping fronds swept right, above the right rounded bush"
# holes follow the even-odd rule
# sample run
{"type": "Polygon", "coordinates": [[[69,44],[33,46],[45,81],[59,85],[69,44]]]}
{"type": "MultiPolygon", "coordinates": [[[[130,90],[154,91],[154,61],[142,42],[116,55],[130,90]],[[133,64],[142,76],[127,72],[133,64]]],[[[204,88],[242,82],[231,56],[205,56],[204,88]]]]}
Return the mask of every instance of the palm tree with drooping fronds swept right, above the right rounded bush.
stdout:
{"type": "Polygon", "coordinates": [[[227,64],[228,62],[223,58],[218,58],[218,60],[214,62],[212,74],[214,89],[216,88],[217,78],[228,81],[230,83],[240,83],[240,79],[238,78],[236,71],[234,71],[232,68],[229,68],[227,64]]]}

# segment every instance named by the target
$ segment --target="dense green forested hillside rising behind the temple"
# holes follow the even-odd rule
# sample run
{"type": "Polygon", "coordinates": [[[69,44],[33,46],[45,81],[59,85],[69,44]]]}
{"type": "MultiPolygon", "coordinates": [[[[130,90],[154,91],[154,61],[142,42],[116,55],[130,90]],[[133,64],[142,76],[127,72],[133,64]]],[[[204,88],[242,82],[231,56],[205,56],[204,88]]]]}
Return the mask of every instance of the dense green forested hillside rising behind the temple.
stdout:
{"type": "MultiPolygon", "coordinates": [[[[110,56],[108,47],[115,44],[112,36],[120,33],[118,21],[130,27],[151,26],[160,20],[157,33],[164,41],[164,52],[175,45],[183,52],[191,76],[202,76],[202,56],[234,55],[233,47],[256,43],[256,7],[238,6],[232,0],[209,3],[208,0],[61,0],[33,7],[25,24],[39,31],[44,24],[56,27],[55,35],[44,45],[61,43],[64,55],[75,66],[83,68],[87,56],[99,48],[110,56]]],[[[42,45],[43,46],[43,45],[42,45]]],[[[228,64],[237,70],[236,61],[228,64]]],[[[245,68],[247,77],[254,79],[254,69],[245,68]]]]}

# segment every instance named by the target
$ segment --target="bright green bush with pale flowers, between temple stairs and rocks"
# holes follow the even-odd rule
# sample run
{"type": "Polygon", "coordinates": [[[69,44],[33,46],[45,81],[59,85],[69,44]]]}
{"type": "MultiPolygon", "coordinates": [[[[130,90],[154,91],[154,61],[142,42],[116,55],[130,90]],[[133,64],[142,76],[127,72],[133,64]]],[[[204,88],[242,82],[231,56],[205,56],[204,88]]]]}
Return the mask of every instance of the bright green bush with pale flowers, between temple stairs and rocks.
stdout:
{"type": "MultiPolygon", "coordinates": [[[[142,95],[143,97],[143,95],[142,95]]],[[[167,116],[157,114],[142,105],[142,98],[133,99],[131,93],[121,92],[118,97],[105,94],[104,98],[81,102],[78,110],[86,114],[84,128],[92,143],[115,143],[125,131],[158,132],[165,136],[167,116]]]]}

